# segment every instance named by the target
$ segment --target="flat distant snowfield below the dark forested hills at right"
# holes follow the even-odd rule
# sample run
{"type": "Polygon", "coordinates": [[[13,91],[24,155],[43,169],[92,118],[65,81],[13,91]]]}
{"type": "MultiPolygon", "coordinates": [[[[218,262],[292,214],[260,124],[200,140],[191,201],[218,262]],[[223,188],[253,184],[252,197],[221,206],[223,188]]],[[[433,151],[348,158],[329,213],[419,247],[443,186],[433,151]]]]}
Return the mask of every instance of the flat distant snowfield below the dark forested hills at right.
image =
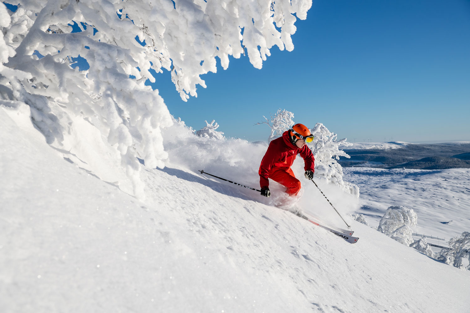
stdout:
{"type": "Polygon", "coordinates": [[[357,212],[366,215],[371,226],[378,226],[387,208],[396,205],[412,208],[418,215],[415,233],[449,240],[470,227],[468,168],[343,168],[343,172],[346,181],[359,186],[357,212]]]}

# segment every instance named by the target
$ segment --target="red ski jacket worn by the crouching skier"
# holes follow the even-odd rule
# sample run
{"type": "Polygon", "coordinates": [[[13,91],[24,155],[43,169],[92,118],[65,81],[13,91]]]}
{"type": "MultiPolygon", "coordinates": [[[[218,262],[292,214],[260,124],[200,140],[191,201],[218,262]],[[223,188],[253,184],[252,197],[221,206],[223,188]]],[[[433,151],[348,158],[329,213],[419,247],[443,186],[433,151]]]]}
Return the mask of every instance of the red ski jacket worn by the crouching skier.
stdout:
{"type": "Polygon", "coordinates": [[[259,185],[261,188],[269,186],[269,175],[278,169],[288,170],[292,163],[294,163],[298,153],[300,153],[300,156],[305,161],[304,169],[315,171],[315,158],[313,157],[312,150],[307,145],[304,145],[302,149],[293,145],[290,142],[288,131],[285,131],[282,137],[271,141],[259,166],[259,185]]]}

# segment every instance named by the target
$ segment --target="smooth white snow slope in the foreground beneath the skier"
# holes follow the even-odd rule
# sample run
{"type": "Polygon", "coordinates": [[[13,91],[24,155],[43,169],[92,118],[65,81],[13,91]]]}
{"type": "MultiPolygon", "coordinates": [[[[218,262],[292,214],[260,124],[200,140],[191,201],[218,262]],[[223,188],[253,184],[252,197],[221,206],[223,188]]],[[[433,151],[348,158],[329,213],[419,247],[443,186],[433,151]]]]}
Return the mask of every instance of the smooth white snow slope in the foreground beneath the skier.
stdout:
{"type": "MultiPolygon", "coordinates": [[[[21,110],[0,107],[2,312],[468,312],[469,271],[355,221],[348,244],[187,164],[142,170],[140,202],[21,110]]],[[[331,210],[308,186],[305,211],[331,210]]]]}

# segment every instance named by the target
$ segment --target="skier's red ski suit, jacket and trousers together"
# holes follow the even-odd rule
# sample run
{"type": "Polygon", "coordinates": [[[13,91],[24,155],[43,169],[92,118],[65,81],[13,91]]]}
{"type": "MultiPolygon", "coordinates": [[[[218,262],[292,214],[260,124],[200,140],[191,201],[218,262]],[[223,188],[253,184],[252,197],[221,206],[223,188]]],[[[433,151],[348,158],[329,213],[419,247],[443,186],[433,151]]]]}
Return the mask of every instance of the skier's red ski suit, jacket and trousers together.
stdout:
{"type": "Polygon", "coordinates": [[[295,177],[292,163],[298,153],[305,161],[304,169],[314,171],[315,159],[307,145],[299,149],[290,142],[289,131],[285,131],[282,137],[276,138],[269,144],[261,165],[259,166],[259,185],[261,188],[269,186],[268,178],[287,187],[286,192],[290,196],[296,196],[300,191],[300,181],[295,177]]]}

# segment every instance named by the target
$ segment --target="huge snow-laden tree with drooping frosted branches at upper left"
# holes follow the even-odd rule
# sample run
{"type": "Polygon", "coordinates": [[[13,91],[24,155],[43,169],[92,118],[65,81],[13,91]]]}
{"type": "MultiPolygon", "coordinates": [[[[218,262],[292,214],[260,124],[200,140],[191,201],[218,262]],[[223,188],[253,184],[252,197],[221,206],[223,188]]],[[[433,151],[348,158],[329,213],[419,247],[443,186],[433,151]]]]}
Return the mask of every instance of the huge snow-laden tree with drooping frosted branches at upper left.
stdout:
{"type": "Polygon", "coordinates": [[[216,58],[227,69],[229,55],[247,53],[260,69],[271,47],[291,51],[294,22],[306,18],[312,1],[17,3],[16,12],[0,4],[0,104],[29,106],[47,143],[66,151],[79,145],[77,119],[90,123],[119,151],[134,194],[142,195],[136,156],[163,167],[161,129],[172,124],[158,91],[145,85],[155,81],[150,69],[171,71],[183,100],[196,96],[197,84],[206,87],[200,76],[216,72],[216,58]],[[79,71],[79,58],[89,69],[79,71]]]}

